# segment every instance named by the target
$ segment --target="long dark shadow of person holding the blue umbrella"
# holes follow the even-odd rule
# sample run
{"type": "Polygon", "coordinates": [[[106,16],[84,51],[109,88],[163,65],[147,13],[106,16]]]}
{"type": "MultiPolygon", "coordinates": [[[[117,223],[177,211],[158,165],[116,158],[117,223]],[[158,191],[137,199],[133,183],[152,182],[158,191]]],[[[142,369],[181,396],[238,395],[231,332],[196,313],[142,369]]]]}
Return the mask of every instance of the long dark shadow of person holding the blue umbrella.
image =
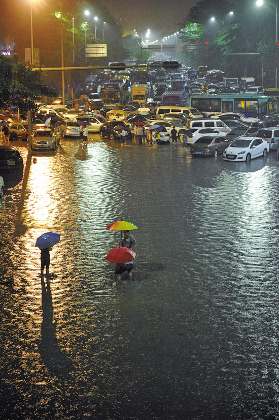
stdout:
{"type": "Polygon", "coordinates": [[[39,352],[45,366],[55,375],[67,375],[74,369],[73,362],[59,348],[56,338],[57,321],[53,322],[53,304],[49,277],[47,285],[41,276],[43,322],[42,338],[38,344],[39,352]]]}

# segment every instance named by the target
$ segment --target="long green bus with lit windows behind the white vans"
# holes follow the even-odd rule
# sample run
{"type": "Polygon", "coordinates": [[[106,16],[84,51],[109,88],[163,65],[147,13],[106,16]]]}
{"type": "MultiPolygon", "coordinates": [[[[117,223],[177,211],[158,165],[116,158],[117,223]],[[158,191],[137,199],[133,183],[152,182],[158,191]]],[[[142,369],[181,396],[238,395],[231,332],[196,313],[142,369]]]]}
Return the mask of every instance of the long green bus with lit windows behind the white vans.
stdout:
{"type": "Polygon", "coordinates": [[[190,97],[190,107],[207,114],[239,112],[245,116],[262,118],[273,109],[279,109],[279,96],[246,94],[196,95],[190,97]]]}

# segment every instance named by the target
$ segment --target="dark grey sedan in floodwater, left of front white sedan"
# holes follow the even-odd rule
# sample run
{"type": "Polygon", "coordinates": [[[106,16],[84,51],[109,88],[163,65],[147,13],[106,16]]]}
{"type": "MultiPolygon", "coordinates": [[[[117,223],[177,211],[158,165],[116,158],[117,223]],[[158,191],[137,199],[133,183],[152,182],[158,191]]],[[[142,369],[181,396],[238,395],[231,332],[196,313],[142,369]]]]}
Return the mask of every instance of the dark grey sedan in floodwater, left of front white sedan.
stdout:
{"type": "Polygon", "coordinates": [[[191,144],[190,153],[194,156],[217,156],[224,152],[228,147],[229,141],[225,137],[216,137],[216,135],[207,135],[198,138],[194,144],[191,144]]]}

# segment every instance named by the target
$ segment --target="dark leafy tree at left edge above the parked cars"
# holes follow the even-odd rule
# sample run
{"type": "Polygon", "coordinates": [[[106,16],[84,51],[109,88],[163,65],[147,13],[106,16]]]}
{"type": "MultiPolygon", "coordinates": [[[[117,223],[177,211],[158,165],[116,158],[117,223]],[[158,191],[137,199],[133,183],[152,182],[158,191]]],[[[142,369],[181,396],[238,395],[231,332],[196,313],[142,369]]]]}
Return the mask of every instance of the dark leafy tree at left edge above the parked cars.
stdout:
{"type": "Polygon", "coordinates": [[[21,113],[38,110],[35,101],[41,95],[53,95],[40,70],[19,63],[16,55],[0,55],[0,108],[15,106],[21,113]]]}

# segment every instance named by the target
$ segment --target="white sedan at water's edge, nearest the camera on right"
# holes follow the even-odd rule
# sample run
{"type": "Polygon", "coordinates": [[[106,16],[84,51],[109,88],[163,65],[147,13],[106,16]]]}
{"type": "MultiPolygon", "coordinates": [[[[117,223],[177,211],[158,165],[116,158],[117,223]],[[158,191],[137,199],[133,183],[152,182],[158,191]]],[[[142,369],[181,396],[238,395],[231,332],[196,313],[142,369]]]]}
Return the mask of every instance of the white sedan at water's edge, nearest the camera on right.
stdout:
{"type": "Polygon", "coordinates": [[[269,152],[267,141],[259,137],[238,137],[223,152],[227,161],[250,161],[269,152]]]}

